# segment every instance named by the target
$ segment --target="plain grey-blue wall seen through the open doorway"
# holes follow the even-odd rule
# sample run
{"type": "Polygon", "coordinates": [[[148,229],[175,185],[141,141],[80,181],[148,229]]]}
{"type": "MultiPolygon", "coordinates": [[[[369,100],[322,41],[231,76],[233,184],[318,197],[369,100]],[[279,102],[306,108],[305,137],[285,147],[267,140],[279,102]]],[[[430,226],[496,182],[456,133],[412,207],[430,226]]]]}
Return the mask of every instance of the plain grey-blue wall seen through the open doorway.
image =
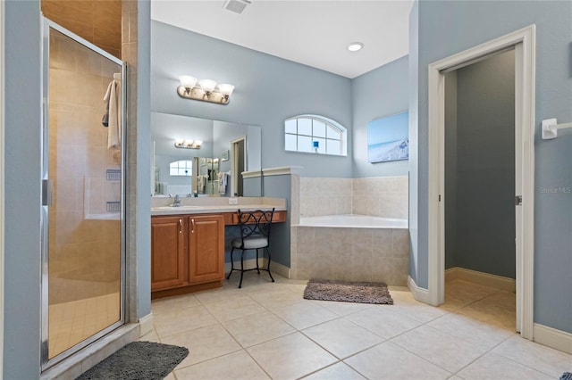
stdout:
{"type": "Polygon", "coordinates": [[[515,52],[445,80],[453,75],[457,88],[445,94],[446,114],[456,113],[445,123],[445,183],[454,181],[445,193],[445,268],[515,278],[515,52]]]}

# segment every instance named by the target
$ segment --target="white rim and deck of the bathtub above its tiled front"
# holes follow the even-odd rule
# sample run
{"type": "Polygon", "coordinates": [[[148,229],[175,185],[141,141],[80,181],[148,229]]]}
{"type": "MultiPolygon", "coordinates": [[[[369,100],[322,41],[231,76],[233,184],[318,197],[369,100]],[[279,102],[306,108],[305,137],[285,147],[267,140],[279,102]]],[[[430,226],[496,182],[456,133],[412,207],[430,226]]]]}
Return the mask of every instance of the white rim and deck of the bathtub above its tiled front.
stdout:
{"type": "Polygon", "coordinates": [[[341,228],[407,228],[408,220],[349,214],[300,218],[299,226],[341,228]]]}

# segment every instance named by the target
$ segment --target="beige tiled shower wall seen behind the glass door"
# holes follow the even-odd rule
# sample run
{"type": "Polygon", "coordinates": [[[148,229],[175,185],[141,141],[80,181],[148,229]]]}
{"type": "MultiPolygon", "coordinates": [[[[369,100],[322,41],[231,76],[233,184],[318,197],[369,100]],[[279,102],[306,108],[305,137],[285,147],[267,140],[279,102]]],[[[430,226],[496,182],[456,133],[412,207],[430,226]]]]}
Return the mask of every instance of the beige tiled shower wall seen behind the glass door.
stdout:
{"type": "Polygon", "coordinates": [[[101,218],[106,201],[121,197],[121,183],[106,180],[106,169],[120,169],[120,161],[101,125],[117,65],[67,37],[52,35],[50,45],[50,276],[118,280],[120,220],[101,218]],[[85,83],[98,90],[82,91],[85,83]]]}

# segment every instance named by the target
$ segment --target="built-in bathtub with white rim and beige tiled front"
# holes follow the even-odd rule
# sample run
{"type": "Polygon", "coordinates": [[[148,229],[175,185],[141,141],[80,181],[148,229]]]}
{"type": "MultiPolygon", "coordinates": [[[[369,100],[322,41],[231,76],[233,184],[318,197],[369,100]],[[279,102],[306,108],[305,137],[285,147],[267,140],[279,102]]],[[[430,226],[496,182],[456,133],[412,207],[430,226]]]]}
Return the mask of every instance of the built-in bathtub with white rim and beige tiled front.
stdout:
{"type": "Polygon", "coordinates": [[[408,220],[335,215],[300,218],[290,230],[290,276],[407,286],[408,220]]]}

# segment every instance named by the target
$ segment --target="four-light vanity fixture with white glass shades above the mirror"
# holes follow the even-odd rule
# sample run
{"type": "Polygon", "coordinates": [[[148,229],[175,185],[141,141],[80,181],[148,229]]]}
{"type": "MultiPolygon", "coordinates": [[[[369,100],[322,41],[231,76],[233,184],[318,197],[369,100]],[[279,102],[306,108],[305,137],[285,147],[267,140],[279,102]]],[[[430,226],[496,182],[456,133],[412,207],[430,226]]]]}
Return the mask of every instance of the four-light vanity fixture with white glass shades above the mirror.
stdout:
{"type": "Polygon", "coordinates": [[[234,86],[226,83],[217,85],[212,79],[198,80],[189,75],[182,75],[179,80],[181,85],[177,87],[177,94],[187,99],[228,104],[232,91],[234,91],[234,86]]]}

